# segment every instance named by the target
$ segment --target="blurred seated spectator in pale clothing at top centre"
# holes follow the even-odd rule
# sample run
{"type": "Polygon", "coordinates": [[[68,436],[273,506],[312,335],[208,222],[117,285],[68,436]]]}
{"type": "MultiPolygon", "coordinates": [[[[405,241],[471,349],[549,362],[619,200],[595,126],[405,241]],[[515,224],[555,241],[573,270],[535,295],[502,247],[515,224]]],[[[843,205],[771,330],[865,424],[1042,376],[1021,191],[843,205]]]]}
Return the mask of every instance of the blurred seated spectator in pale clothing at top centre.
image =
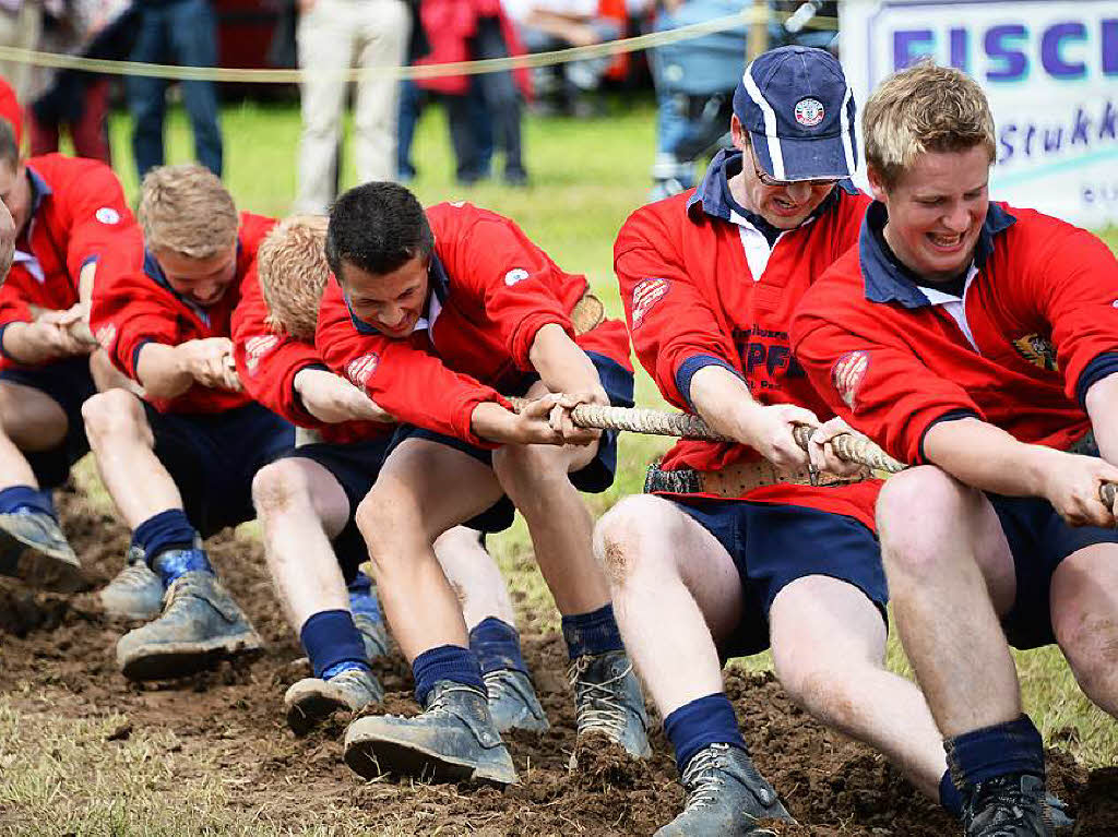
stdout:
{"type": "MultiPolygon", "coordinates": [[[[585,47],[622,37],[622,22],[600,13],[600,0],[504,0],[504,4],[517,21],[517,31],[529,53],[585,47]]],[[[552,79],[559,72],[562,79],[559,96],[565,111],[590,115],[595,107],[585,94],[598,89],[610,60],[605,56],[540,67],[532,83],[541,97],[547,96],[555,91],[552,79]]]]}

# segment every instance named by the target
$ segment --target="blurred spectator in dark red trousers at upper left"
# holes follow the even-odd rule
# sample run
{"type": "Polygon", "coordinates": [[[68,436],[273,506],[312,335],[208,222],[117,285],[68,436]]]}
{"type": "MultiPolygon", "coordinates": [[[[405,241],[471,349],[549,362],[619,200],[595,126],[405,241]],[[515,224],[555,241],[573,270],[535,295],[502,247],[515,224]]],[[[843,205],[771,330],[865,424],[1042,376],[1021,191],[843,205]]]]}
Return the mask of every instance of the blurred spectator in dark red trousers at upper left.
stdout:
{"type": "MultiPolygon", "coordinates": [[[[135,34],[130,0],[68,0],[60,17],[48,17],[42,47],[88,58],[126,58],[135,34]]],[[[112,163],[108,146],[108,79],[76,69],[41,72],[30,108],[31,154],[58,151],[60,129],[74,153],[112,163]]]]}

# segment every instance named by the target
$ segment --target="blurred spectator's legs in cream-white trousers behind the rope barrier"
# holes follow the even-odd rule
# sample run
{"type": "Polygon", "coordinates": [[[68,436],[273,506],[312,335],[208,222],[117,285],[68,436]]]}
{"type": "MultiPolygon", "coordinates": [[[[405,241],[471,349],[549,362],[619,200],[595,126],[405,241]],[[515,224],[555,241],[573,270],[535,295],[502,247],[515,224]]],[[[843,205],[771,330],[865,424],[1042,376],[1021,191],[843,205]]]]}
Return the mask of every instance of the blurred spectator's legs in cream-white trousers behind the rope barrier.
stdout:
{"type": "MultiPolygon", "coordinates": [[[[325,212],[337,192],[338,148],[352,67],[399,67],[414,13],[404,0],[300,0],[303,139],[296,212],[325,212]]],[[[389,75],[357,84],[354,133],[360,182],[396,177],[399,85],[389,75]]]]}

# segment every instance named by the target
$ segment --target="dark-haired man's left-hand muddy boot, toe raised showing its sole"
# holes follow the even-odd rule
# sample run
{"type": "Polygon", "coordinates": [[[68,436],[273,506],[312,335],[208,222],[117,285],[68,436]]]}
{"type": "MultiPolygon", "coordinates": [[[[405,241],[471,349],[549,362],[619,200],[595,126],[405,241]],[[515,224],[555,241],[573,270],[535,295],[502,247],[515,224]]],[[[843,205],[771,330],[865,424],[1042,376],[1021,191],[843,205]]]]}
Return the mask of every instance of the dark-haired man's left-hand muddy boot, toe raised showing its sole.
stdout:
{"type": "Polygon", "coordinates": [[[434,685],[420,715],[364,715],[351,723],[345,763],[366,779],[397,773],[437,782],[517,782],[485,694],[452,681],[434,685]]]}

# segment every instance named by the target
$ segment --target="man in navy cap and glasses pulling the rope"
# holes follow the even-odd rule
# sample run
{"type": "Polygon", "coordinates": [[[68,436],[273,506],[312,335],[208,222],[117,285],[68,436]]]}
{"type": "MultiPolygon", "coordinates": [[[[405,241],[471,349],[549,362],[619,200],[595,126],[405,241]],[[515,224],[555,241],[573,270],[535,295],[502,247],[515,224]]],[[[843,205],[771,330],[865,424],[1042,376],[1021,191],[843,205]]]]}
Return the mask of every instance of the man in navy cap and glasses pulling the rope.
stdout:
{"type": "Polygon", "coordinates": [[[735,149],[698,190],[636,211],[614,247],[641,362],[669,401],[733,440],[681,441],[652,493],[623,500],[595,534],[688,791],[661,835],[759,834],[758,819],[788,817],[722,689],[722,660],[766,648],[823,723],[929,796],[945,776],[919,689],[884,668],[879,483],[831,455],[844,426],[819,427],[834,413],[788,340],[799,297],[856,240],[869,203],[849,181],[854,102],[832,56],[785,47],[749,65],[733,110],[735,149]],[[798,425],[818,428],[811,454],[798,425]]]}

